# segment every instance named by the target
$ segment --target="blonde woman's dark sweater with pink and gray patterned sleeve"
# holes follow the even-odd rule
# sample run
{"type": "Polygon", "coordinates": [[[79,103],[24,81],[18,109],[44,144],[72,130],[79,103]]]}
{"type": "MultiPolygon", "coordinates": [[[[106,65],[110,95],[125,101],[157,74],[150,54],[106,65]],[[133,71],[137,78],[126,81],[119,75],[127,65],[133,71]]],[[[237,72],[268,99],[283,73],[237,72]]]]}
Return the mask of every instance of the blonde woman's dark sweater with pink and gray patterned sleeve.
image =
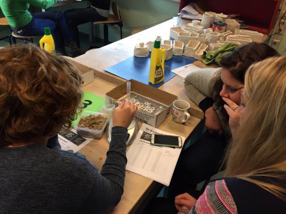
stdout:
{"type": "MultiPolygon", "coordinates": [[[[286,185],[286,181],[280,181],[278,185],[286,185]]],[[[189,213],[286,214],[286,201],[245,180],[224,178],[210,182],[191,211],[184,209],[178,214],[189,213]]]]}

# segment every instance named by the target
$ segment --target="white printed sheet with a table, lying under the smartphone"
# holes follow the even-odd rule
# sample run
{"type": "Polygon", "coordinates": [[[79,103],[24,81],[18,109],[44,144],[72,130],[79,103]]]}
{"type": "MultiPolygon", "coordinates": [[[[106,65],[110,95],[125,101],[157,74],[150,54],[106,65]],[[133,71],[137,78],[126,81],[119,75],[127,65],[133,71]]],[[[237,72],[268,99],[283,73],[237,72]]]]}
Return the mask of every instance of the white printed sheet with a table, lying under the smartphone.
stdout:
{"type": "MultiPolygon", "coordinates": [[[[168,186],[182,148],[151,145],[152,134],[174,135],[142,124],[135,141],[127,152],[126,170],[168,186]]],[[[184,143],[185,138],[181,138],[184,143]]]]}

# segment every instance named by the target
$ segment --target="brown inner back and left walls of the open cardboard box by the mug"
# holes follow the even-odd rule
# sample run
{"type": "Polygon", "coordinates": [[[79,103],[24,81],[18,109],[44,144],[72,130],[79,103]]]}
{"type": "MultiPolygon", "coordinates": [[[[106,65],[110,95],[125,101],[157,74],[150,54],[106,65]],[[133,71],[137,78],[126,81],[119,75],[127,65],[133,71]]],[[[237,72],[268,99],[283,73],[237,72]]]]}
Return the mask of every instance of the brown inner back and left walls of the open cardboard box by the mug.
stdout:
{"type": "MultiPolygon", "coordinates": [[[[174,94],[170,94],[166,91],[160,90],[158,88],[148,86],[136,80],[129,80],[131,82],[131,91],[141,94],[145,97],[151,98],[152,100],[159,101],[167,106],[171,105],[174,100],[177,100],[178,97],[174,94]]],[[[127,82],[127,81],[126,81],[127,82]]],[[[121,85],[113,88],[111,91],[106,93],[107,96],[114,98],[116,100],[120,99],[122,95],[126,94],[126,85],[124,82],[121,85]]]]}

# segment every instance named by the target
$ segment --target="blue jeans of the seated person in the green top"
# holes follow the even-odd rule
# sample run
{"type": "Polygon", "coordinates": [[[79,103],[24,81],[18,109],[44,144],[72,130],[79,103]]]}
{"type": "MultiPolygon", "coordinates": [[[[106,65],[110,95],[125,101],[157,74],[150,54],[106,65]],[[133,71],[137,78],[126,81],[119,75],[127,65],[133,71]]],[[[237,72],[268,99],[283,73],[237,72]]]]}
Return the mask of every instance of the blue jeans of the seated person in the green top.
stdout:
{"type": "Polygon", "coordinates": [[[44,35],[44,28],[49,27],[53,34],[56,50],[65,53],[64,43],[70,42],[73,37],[64,14],[61,11],[46,11],[32,14],[32,17],[32,21],[28,25],[16,29],[12,28],[12,30],[21,36],[41,36],[44,35]]]}

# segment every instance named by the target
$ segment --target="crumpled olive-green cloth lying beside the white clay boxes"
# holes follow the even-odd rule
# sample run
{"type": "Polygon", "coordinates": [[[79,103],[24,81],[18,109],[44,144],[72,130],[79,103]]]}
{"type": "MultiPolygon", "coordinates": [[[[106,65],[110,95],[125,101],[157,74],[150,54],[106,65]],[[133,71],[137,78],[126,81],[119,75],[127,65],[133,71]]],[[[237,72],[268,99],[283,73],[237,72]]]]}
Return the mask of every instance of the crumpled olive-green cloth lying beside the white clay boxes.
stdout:
{"type": "Polygon", "coordinates": [[[204,51],[202,56],[202,62],[206,65],[216,62],[220,64],[221,58],[230,54],[234,49],[238,47],[234,43],[225,43],[218,50],[215,51],[204,51]]]}

